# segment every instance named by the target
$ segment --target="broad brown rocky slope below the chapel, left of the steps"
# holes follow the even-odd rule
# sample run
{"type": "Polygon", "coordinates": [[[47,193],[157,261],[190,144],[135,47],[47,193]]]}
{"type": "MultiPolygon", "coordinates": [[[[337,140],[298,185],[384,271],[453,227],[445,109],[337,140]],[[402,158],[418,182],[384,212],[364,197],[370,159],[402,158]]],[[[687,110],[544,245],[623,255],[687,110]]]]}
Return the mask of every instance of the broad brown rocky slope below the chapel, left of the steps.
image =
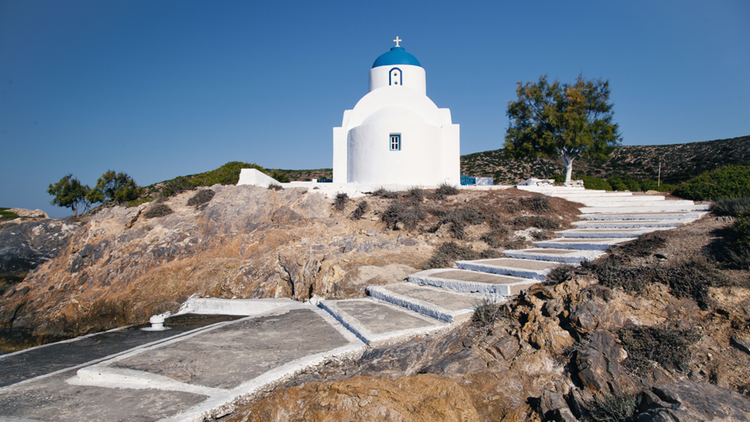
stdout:
{"type": "Polygon", "coordinates": [[[415,272],[432,250],[399,242],[372,215],[355,222],[351,211],[333,212],[321,194],[211,189],[199,207],[187,205],[194,191],[170,198],[174,212],[161,217],[144,217],[155,205],[147,203],[3,231],[3,265],[36,269],[0,299],[0,326],[65,337],[176,312],[191,295],[363,296],[368,284],[415,272]]]}

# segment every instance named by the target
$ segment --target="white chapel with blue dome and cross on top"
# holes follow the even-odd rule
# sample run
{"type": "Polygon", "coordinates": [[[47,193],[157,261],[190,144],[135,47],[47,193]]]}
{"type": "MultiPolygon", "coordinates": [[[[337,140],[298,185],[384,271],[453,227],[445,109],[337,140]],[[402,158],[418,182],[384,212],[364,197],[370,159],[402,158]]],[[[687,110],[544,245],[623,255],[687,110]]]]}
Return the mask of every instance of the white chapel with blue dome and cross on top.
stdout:
{"type": "Polygon", "coordinates": [[[369,92],[333,128],[334,184],[460,184],[459,125],[427,97],[424,68],[401,41],[375,60],[369,92]]]}

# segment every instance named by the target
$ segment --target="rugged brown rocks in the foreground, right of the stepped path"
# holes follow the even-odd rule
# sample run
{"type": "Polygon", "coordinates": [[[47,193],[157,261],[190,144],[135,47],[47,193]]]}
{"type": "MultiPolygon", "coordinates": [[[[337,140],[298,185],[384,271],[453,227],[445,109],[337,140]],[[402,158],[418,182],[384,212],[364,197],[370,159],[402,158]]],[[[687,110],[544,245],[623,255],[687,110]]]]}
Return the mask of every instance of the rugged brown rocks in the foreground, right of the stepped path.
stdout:
{"type": "MultiPolygon", "coordinates": [[[[696,239],[706,242],[706,233],[715,229],[708,222],[677,230],[679,245],[668,242],[665,248],[687,255],[686,249],[700,249],[696,239]]],[[[747,273],[733,276],[746,279],[747,273]]],[[[443,335],[371,349],[357,361],[318,368],[240,406],[226,420],[257,415],[384,420],[378,409],[429,404],[436,416],[417,417],[746,421],[750,288],[745,286],[710,288],[716,308],[704,310],[694,299],[673,296],[663,284],[626,293],[602,286],[584,269],[571,269],[567,281],[535,285],[498,306],[494,322],[485,310],[481,318],[443,335]],[[421,385],[425,379],[444,392],[425,388],[417,395],[388,395],[387,402],[369,399],[394,385],[421,385]],[[447,391],[466,401],[465,413],[449,413],[455,404],[445,399],[447,391]],[[366,416],[357,416],[359,411],[366,416]]],[[[413,420],[410,414],[393,415],[413,420]]]]}

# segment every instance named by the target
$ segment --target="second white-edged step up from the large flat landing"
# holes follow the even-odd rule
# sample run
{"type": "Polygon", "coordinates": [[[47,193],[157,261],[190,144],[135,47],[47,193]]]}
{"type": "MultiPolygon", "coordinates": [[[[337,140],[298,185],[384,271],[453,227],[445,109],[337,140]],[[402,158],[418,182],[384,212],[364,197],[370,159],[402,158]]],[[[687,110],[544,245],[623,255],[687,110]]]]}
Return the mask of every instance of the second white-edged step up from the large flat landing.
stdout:
{"type": "Polygon", "coordinates": [[[368,286],[367,294],[373,299],[411,309],[448,323],[456,321],[457,318],[469,318],[476,304],[482,299],[481,296],[415,283],[368,286]]]}

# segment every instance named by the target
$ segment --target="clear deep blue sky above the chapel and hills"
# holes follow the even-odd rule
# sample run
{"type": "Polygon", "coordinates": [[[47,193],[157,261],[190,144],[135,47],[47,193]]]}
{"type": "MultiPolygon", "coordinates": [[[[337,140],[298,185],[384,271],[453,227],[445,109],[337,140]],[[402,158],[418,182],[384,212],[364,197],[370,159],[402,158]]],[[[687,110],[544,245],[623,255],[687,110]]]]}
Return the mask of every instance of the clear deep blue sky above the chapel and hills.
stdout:
{"type": "Polygon", "coordinates": [[[747,0],[0,0],[0,206],[69,215],[45,192],[67,173],[331,167],[396,36],[462,154],[502,147],[543,74],[608,79],[625,145],[750,135],[747,0]]]}

